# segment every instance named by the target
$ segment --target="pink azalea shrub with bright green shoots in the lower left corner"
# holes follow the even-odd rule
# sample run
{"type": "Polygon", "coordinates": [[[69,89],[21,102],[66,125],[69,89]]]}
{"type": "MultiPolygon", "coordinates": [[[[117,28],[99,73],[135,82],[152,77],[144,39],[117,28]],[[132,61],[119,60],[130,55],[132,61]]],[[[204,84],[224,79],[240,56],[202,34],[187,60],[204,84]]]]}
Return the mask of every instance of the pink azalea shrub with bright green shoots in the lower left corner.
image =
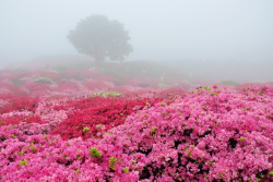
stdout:
{"type": "Polygon", "coordinates": [[[2,126],[0,180],[138,181],[138,169],[143,165],[133,166],[131,161],[138,159],[139,163],[144,163],[143,155],[122,154],[120,141],[110,144],[112,137],[106,136],[106,141],[61,141],[46,134],[26,136],[15,129],[2,126]]]}

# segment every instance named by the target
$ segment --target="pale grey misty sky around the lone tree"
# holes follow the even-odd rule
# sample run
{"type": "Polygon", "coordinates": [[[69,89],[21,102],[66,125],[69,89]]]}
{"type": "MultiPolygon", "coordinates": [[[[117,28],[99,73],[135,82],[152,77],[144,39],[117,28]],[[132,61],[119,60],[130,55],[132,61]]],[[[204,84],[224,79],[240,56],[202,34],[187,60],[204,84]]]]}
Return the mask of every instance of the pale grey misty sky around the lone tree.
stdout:
{"type": "Polygon", "coordinates": [[[0,65],[78,53],[67,35],[92,14],[124,24],[128,60],[273,61],[272,0],[0,0],[0,65]]]}

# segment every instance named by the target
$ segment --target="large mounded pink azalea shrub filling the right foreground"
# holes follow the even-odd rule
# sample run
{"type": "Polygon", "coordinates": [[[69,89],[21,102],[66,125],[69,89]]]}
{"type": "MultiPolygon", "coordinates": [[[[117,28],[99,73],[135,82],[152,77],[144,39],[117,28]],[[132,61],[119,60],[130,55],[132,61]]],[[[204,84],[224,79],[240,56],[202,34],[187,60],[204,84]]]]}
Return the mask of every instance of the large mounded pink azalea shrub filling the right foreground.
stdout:
{"type": "Polygon", "coordinates": [[[266,87],[256,102],[217,88],[198,90],[130,116],[109,132],[126,133],[129,148],[147,156],[150,180],[272,180],[273,100],[266,87]]]}

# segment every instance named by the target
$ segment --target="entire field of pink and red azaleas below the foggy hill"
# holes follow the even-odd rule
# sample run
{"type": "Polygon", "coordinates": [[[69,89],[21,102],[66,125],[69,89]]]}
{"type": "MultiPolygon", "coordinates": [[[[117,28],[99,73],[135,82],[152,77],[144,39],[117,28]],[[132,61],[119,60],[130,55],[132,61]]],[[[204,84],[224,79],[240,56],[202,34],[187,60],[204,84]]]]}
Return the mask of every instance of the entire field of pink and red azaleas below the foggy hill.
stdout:
{"type": "Polygon", "coordinates": [[[272,83],[99,72],[0,71],[0,181],[273,181],[272,83]]]}

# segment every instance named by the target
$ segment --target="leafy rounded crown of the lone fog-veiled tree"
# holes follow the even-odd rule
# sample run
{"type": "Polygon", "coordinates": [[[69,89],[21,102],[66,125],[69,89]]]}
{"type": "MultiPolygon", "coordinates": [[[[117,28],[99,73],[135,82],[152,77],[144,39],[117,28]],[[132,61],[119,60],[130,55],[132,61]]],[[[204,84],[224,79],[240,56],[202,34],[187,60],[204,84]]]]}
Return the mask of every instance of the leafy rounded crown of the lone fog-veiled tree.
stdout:
{"type": "Polygon", "coordinates": [[[109,21],[105,15],[91,15],[69,32],[68,39],[80,53],[91,56],[97,62],[106,57],[122,61],[133,50],[128,44],[128,34],[120,22],[109,21]]]}

